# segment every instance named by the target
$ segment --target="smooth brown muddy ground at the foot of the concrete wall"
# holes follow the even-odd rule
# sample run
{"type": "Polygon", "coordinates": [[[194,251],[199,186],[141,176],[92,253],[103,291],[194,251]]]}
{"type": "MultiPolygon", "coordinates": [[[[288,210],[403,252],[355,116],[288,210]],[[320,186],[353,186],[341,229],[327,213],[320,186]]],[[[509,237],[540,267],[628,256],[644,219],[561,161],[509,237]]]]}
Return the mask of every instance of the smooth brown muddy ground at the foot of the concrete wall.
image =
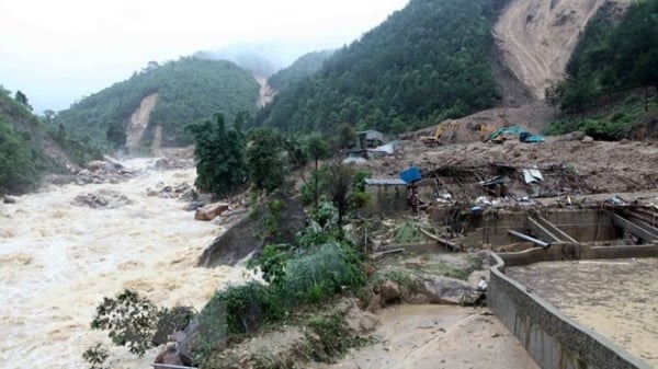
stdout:
{"type": "Polygon", "coordinates": [[[377,318],[377,343],[316,369],[538,369],[490,313],[447,305],[399,305],[377,318]]]}

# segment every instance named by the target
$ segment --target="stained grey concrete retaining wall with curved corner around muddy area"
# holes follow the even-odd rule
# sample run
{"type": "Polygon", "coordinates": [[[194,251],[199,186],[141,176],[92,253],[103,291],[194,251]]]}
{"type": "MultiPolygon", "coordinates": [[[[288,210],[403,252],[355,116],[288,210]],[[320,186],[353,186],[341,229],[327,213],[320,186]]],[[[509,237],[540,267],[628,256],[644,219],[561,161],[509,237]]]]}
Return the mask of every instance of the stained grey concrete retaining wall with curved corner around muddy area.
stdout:
{"type": "Polygon", "coordinates": [[[520,253],[491,254],[487,304],[543,369],[649,369],[622,347],[566,316],[506,276],[504,266],[575,258],[658,257],[658,246],[590,247],[556,245],[520,253]],[[571,258],[571,257],[567,257],[571,258]]]}

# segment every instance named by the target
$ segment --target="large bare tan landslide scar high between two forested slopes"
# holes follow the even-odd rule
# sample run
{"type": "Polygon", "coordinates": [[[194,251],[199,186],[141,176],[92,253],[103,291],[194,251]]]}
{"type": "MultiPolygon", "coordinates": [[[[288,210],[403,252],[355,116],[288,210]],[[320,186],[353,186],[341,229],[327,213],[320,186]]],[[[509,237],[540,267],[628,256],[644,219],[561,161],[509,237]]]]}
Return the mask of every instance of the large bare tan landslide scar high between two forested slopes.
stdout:
{"type": "Polygon", "coordinates": [[[551,81],[564,77],[580,32],[606,4],[623,13],[632,0],[511,0],[494,27],[501,62],[529,90],[544,99],[551,81]]]}

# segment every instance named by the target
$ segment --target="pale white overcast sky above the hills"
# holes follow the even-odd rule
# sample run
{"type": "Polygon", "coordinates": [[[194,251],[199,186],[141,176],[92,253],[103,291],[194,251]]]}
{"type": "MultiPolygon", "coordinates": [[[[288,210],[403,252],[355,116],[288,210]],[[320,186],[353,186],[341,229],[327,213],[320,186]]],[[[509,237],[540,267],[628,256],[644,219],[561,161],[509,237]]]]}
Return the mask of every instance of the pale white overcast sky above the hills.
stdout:
{"type": "Polygon", "coordinates": [[[239,43],[287,54],[359,38],[409,0],[0,0],[0,84],[36,113],[125,80],[149,60],[239,43]]]}

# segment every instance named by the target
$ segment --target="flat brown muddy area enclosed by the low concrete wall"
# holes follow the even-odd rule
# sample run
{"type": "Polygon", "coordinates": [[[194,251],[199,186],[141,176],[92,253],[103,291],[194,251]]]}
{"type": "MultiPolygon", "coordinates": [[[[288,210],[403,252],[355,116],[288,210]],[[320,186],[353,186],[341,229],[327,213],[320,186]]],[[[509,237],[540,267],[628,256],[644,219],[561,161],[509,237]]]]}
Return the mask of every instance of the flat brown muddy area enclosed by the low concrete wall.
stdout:
{"type": "Polygon", "coordinates": [[[546,262],[506,273],[658,368],[658,258],[546,262]]]}

